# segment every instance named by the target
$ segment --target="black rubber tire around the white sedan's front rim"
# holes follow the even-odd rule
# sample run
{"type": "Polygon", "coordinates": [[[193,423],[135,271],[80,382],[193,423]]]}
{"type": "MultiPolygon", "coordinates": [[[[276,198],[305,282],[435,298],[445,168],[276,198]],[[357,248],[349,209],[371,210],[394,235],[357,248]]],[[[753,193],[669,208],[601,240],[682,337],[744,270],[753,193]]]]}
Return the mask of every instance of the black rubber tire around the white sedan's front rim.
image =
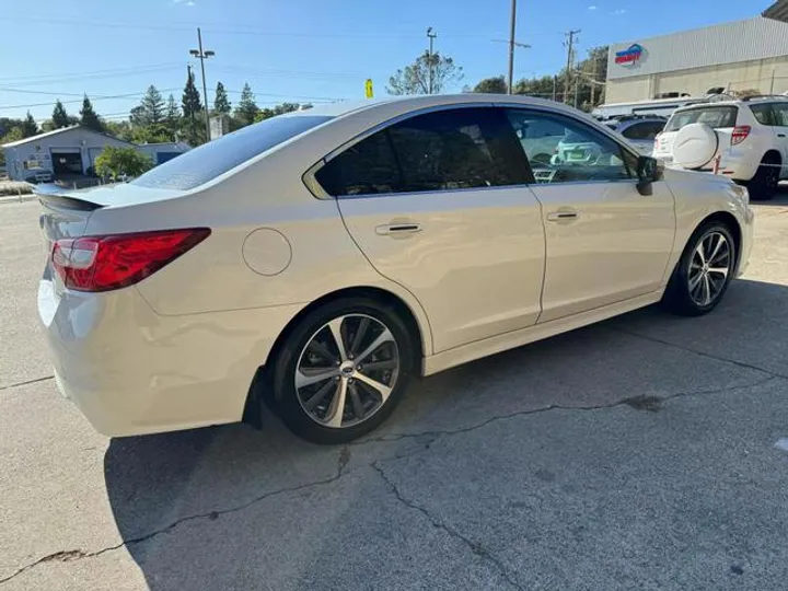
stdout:
{"type": "MultiPolygon", "coordinates": [[[[707,244],[709,243],[707,242],[707,244]]],[[[733,273],[735,271],[738,256],[739,252],[737,244],[728,225],[718,221],[711,221],[700,225],[687,241],[687,245],[684,248],[675,269],[673,269],[673,275],[668,282],[668,288],[662,297],[662,304],[664,308],[674,314],[682,316],[700,316],[711,312],[711,310],[714,310],[722,300],[725,292],[728,290],[728,286],[730,285],[730,281],[733,278],[733,273]],[[721,287],[715,294],[714,299],[711,299],[708,303],[699,303],[696,301],[696,298],[693,296],[693,291],[691,289],[691,269],[693,271],[697,270],[697,267],[694,265],[697,264],[696,250],[700,243],[709,240],[709,237],[715,234],[722,234],[728,242],[730,251],[729,256],[725,262],[725,266],[727,266],[728,271],[725,277],[725,281],[721,283],[721,287]]],[[[718,265],[721,267],[722,263],[720,262],[718,265]]]]}

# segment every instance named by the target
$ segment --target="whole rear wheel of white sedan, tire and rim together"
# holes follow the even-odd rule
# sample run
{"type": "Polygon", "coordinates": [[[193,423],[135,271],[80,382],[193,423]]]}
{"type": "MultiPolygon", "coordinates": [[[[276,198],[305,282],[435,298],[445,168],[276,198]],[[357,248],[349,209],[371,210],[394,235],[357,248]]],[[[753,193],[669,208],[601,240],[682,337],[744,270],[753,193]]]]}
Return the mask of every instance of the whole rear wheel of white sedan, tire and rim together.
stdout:
{"type": "Polygon", "coordinates": [[[279,410],[299,437],[344,443],[381,425],[413,373],[410,334],[372,299],[331,302],[287,339],[274,370],[279,410]]]}

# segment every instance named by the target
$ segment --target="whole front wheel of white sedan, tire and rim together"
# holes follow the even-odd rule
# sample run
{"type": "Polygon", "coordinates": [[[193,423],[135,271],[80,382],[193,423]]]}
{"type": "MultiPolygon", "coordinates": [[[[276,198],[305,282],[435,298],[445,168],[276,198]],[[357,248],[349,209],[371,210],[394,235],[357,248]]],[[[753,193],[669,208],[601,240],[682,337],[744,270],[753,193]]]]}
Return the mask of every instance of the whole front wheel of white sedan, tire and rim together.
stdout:
{"type": "Polygon", "coordinates": [[[735,264],[737,247],[730,229],[720,222],[702,225],[687,242],[662,302],[684,316],[707,314],[722,299],[735,264]]]}

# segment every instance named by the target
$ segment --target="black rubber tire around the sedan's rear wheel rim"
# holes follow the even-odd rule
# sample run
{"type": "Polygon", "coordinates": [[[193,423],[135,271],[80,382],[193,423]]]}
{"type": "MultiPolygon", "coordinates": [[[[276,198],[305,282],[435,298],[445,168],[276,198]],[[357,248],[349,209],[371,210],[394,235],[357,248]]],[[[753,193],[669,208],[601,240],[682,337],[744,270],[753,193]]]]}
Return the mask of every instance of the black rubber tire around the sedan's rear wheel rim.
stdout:
{"type": "MultiPolygon", "coordinates": [[[[373,324],[373,321],[370,321],[370,324],[373,324]]],[[[345,323],[347,322],[346,320],[345,323]]],[[[348,325],[344,324],[343,326],[347,327],[348,325]]],[[[378,324],[374,324],[374,326],[378,327],[378,324]]],[[[345,331],[347,332],[348,328],[345,328],[345,331]]],[[[357,331],[361,332],[358,328],[357,331]]],[[[336,300],[310,312],[301,320],[294,329],[291,331],[274,363],[271,383],[276,391],[278,414],[293,433],[314,443],[346,443],[373,431],[389,418],[407,390],[416,362],[416,356],[414,355],[415,349],[413,347],[414,338],[415,336],[410,334],[395,308],[371,298],[336,300]],[[320,418],[313,418],[304,408],[304,403],[302,398],[299,397],[299,392],[296,387],[296,373],[299,362],[302,359],[302,354],[308,355],[306,346],[313,337],[317,337],[331,321],[348,315],[352,316],[350,322],[354,322],[356,317],[369,316],[389,329],[393,336],[393,341],[396,344],[396,350],[398,351],[398,369],[391,394],[382,405],[379,405],[378,409],[374,410],[369,418],[362,419],[360,422],[350,424],[349,426],[329,427],[322,425],[318,421],[320,418]]],[[[348,340],[350,339],[348,338],[348,340]]],[[[334,340],[333,343],[336,341],[334,340]]],[[[331,347],[331,345],[327,344],[326,346],[331,347]]],[[[334,345],[334,347],[336,347],[336,345],[334,345]]],[[[344,347],[348,347],[348,345],[346,344],[344,347]]],[[[332,348],[332,351],[333,350],[335,349],[332,348]]],[[[323,364],[323,362],[320,364],[323,364]]],[[[344,378],[341,379],[344,380],[344,378]]],[[[337,378],[333,380],[337,380],[337,378]]],[[[350,381],[352,382],[352,380],[350,381]]],[[[322,385],[329,387],[328,381],[316,383],[314,387],[317,389],[322,385]]],[[[357,389],[360,389],[362,385],[363,384],[357,381],[357,389]]],[[[361,391],[359,390],[357,392],[361,391]]],[[[369,396],[370,392],[371,391],[364,386],[363,394],[369,396]]],[[[329,394],[332,396],[329,401],[327,401],[326,404],[318,405],[315,412],[320,412],[321,407],[327,406],[329,402],[333,403],[333,397],[336,395],[336,392],[331,393],[329,387],[329,394]]],[[[369,403],[369,401],[367,402],[369,403]]],[[[346,414],[354,413],[352,403],[348,403],[346,399],[345,409],[343,409],[340,421],[344,421],[346,414]],[[350,404],[350,407],[348,407],[348,404],[350,404]]],[[[325,409],[326,415],[329,410],[329,408],[325,409]]]]}

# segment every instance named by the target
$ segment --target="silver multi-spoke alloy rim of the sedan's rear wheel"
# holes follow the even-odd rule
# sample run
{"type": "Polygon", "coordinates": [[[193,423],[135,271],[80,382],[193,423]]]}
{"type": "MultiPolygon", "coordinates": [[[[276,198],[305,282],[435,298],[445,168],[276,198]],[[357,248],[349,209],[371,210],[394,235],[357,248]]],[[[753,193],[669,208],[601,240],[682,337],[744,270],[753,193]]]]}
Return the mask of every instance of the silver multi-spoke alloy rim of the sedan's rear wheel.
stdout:
{"type": "Polygon", "coordinates": [[[346,314],[306,343],[296,366],[296,393],[312,420],[346,428],[385,405],[398,372],[399,348],[389,327],[366,314],[346,314]]]}

